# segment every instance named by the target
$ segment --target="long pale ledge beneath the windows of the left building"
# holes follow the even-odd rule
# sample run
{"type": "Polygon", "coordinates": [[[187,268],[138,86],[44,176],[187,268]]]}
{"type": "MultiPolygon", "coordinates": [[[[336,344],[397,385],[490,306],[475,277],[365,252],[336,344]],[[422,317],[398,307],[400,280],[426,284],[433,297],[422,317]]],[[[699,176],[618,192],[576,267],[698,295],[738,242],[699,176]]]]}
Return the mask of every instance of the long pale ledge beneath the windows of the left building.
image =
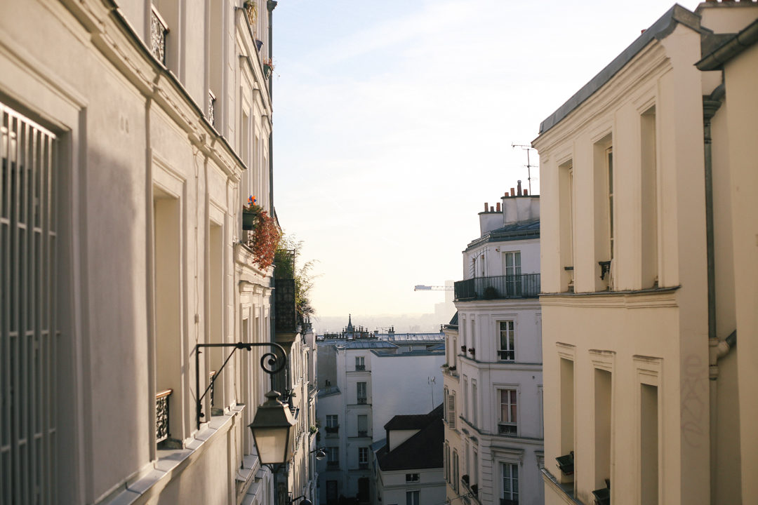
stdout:
{"type": "MultiPolygon", "coordinates": [[[[245,410],[245,406],[238,405],[224,416],[211,417],[211,421],[205,424],[199,432],[196,432],[183,449],[159,449],[156,452],[158,459],[153,461],[145,472],[140,472],[136,479],[130,479],[124,485],[118,486],[113,492],[96,503],[98,505],[105,505],[106,503],[129,505],[137,500],[146,501],[157,496],[169,482],[179,479],[181,473],[208,449],[209,441],[215,441],[219,438],[215,435],[223,435],[228,432],[235,425],[234,418],[240,416],[243,410],[245,410]]],[[[257,461],[258,458],[255,457],[255,460],[257,461]]]]}

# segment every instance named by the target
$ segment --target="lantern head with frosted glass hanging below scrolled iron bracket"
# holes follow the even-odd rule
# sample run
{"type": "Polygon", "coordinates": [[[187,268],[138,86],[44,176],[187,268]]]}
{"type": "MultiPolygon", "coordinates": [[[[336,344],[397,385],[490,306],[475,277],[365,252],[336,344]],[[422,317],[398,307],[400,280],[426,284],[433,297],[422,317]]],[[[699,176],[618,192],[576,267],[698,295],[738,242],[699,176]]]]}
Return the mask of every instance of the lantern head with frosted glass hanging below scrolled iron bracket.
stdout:
{"type": "Polygon", "coordinates": [[[289,459],[290,432],[296,421],[290,408],[279,401],[277,391],[268,391],[266,397],[268,400],[258,407],[249,428],[261,464],[275,465],[289,459]]]}

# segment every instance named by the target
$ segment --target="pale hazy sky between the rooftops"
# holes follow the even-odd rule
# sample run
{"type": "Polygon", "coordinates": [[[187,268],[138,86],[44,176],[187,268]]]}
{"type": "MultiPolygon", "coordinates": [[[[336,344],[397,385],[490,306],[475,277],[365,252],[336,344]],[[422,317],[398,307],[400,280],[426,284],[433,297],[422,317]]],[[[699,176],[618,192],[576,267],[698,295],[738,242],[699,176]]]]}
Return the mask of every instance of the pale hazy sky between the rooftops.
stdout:
{"type": "Polygon", "coordinates": [[[528,186],[511,144],[672,5],[280,0],[274,201],[318,261],[318,313],[432,312],[443,292],[413,286],[462,279],[484,202],[528,186]]]}

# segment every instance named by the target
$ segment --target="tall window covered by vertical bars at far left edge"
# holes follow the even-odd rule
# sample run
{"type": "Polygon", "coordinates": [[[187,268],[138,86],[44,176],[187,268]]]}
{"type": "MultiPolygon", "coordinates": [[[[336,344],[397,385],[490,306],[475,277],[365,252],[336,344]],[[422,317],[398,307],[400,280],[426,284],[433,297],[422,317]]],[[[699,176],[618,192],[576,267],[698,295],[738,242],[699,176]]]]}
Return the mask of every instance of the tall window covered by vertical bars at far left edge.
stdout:
{"type": "Polygon", "coordinates": [[[0,501],[55,500],[55,135],[0,104],[0,501]]]}

